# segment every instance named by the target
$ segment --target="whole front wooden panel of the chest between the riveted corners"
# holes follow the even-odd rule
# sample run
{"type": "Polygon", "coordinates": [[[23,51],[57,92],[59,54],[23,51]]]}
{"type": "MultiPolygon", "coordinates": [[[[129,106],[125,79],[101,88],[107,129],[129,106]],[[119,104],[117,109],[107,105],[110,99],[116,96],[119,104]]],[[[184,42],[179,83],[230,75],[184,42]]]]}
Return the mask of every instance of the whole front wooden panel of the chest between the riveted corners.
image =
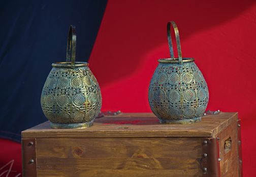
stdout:
{"type": "Polygon", "coordinates": [[[201,176],[200,138],[39,138],[38,176],[201,176]]]}

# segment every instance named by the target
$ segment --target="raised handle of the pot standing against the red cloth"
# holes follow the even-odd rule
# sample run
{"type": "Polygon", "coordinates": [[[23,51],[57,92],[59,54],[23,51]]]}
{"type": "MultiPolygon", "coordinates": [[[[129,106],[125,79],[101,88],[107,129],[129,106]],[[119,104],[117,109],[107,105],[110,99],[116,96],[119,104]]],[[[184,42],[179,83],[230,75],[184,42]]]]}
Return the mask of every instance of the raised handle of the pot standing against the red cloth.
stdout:
{"type": "Polygon", "coordinates": [[[177,25],[174,21],[170,21],[170,22],[167,23],[167,37],[168,37],[168,44],[169,44],[169,50],[170,50],[171,58],[174,58],[172,37],[171,37],[171,24],[173,26],[173,29],[174,29],[174,32],[175,32],[175,37],[176,37],[178,56],[179,56],[179,64],[182,64],[179,30],[178,30],[178,27],[177,27],[177,25]]]}

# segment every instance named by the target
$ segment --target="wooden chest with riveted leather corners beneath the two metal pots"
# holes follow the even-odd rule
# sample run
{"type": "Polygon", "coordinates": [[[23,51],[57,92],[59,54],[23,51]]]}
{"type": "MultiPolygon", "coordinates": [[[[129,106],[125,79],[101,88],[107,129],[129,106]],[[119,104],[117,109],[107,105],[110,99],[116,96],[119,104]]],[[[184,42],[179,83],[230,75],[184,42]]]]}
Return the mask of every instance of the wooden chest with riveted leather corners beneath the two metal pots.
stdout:
{"type": "Polygon", "coordinates": [[[44,122],[21,134],[23,176],[242,176],[237,113],[186,125],[121,113],[90,128],[44,122]]]}

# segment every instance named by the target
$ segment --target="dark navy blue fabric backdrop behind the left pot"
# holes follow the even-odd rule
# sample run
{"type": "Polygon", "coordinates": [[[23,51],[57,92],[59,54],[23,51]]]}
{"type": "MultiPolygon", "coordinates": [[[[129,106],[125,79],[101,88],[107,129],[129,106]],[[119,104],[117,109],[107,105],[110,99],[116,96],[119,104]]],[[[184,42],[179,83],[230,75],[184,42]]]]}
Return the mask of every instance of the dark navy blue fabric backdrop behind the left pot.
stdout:
{"type": "Polygon", "coordinates": [[[51,63],[66,60],[67,35],[77,27],[76,60],[87,61],[107,0],[0,2],[0,137],[46,121],[40,97],[51,63]]]}

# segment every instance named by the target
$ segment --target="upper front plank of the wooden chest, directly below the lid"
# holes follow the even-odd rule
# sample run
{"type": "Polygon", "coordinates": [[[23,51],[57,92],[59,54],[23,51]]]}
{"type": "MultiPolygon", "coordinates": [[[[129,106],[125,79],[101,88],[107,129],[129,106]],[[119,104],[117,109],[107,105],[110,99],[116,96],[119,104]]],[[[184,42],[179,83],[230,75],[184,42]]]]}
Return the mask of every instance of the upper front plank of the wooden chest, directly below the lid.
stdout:
{"type": "Polygon", "coordinates": [[[199,138],[40,138],[37,142],[38,158],[46,156],[49,158],[73,158],[73,156],[83,158],[147,158],[151,156],[181,158],[188,156],[196,158],[201,151],[199,138]],[[181,148],[182,153],[180,153],[181,148]]]}

